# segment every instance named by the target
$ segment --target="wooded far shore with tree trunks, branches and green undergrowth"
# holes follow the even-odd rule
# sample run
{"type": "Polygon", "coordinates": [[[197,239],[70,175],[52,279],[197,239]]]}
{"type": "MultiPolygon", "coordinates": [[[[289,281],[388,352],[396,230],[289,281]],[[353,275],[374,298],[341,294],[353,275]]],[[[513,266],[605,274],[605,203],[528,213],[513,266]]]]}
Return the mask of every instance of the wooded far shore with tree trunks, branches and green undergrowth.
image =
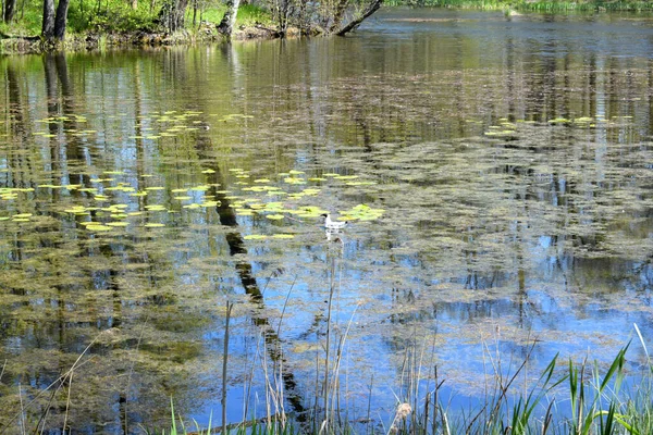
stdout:
{"type": "Polygon", "coordinates": [[[517,11],[646,11],[649,1],[2,0],[0,52],[160,46],[232,37],[344,36],[382,5],[517,11]],[[64,44],[67,35],[67,42],[64,44]]]}

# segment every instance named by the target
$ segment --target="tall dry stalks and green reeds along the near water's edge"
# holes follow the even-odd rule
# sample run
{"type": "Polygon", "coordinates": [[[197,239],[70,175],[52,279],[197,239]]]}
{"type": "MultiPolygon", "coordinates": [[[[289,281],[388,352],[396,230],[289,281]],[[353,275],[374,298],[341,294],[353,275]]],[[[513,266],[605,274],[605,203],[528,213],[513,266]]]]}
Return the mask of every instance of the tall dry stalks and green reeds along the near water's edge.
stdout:
{"type": "MultiPolygon", "coordinates": [[[[360,426],[353,425],[347,415],[347,403],[341,402],[342,365],[346,356],[346,343],[356,310],[353,311],[345,327],[336,327],[334,310],[337,304],[332,303],[337,298],[340,289],[340,272],[335,259],[331,262],[330,302],[325,308],[326,335],[324,340],[330,343],[317,360],[317,374],[315,388],[307,388],[308,397],[304,402],[313,402],[313,412],[308,421],[300,421],[296,415],[286,415],[284,410],[283,387],[283,358],[282,355],[271,352],[274,364],[268,361],[267,343],[262,339],[258,359],[263,371],[266,382],[266,415],[259,420],[227,424],[224,412],[222,413],[221,427],[211,427],[212,417],[208,426],[201,427],[196,421],[186,425],[181,415],[175,414],[171,398],[171,424],[168,430],[147,431],[148,434],[355,434],[360,426]],[[337,276],[337,277],[336,277],[337,276]],[[328,351],[333,347],[332,351],[328,351]],[[270,366],[273,369],[270,370],[270,366]]],[[[293,283],[294,285],[294,283],[293,283]]],[[[287,299],[292,293],[288,290],[287,299]]],[[[285,309],[284,309],[285,310],[285,309]]],[[[227,378],[229,369],[229,341],[232,326],[232,304],[226,307],[226,321],[224,332],[224,359],[223,380],[227,378]]],[[[283,315],[282,315],[283,316],[283,315]]],[[[275,328],[276,335],[281,333],[282,322],[275,328]]],[[[626,355],[631,347],[627,344],[607,365],[590,362],[589,358],[580,362],[569,359],[560,361],[555,356],[541,371],[539,377],[529,382],[528,372],[537,346],[537,340],[528,347],[526,357],[521,360],[502,361],[498,352],[498,339],[491,349],[484,344],[484,358],[486,364],[486,385],[479,395],[482,400],[477,408],[455,409],[451,402],[442,397],[442,386],[438,366],[433,358],[434,341],[428,337],[416,339],[411,337],[406,343],[404,359],[398,375],[401,389],[395,396],[396,407],[386,415],[386,426],[381,431],[379,426],[365,425],[365,433],[386,434],[469,434],[469,435],[611,435],[611,434],[653,434],[653,364],[637,325],[634,331],[645,360],[634,376],[630,377],[627,369],[626,355]],[[424,369],[432,368],[432,369],[424,369]]],[[[417,334],[415,334],[417,335],[417,334]]],[[[73,374],[79,370],[88,359],[84,359],[89,348],[96,343],[94,339],[79,355],[70,370],[64,373],[49,389],[54,393],[61,388],[72,386],[73,374]]],[[[272,343],[272,341],[271,341],[272,343]]],[[[258,364],[258,362],[254,362],[258,364]]],[[[254,370],[254,369],[252,369],[254,370]]],[[[224,381],[226,382],[226,381],[224,381]]],[[[372,384],[370,381],[368,420],[372,399],[372,384]]],[[[346,383],[345,383],[346,385],[346,383]]],[[[21,386],[19,386],[21,388],[21,386]]],[[[248,387],[249,388],[249,387],[248,387]]],[[[227,405],[226,384],[223,384],[223,410],[227,405]]],[[[294,391],[296,393],[296,391],[294,391]]],[[[350,391],[344,391],[345,397],[350,391]]],[[[22,400],[22,398],[21,398],[22,400]]],[[[246,399],[247,400],[247,399],[246,399]]],[[[25,412],[29,402],[21,403],[15,420],[21,433],[30,432],[26,427],[25,412]]],[[[66,400],[66,412],[70,400],[66,400]]],[[[244,409],[247,409],[244,407],[244,409]]],[[[256,411],[255,411],[256,412],[256,411]]],[[[44,417],[45,419],[45,417],[44,417]]],[[[62,432],[66,431],[66,420],[62,432]]],[[[39,424],[36,425],[38,430],[39,424]]],[[[45,426],[44,426],[45,427],[45,426]]],[[[70,430],[74,430],[70,428],[70,430]]],[[[38,431],[37,431],[38,432],[38,431]]]]}

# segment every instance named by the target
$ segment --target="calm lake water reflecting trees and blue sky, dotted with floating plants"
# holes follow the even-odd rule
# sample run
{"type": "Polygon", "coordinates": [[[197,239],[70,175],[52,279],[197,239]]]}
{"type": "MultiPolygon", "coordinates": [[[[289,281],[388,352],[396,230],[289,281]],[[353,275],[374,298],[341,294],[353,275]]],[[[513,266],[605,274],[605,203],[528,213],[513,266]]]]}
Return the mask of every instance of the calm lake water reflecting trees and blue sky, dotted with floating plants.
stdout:
{"type": "Polygon", "coordinates": [[[0,59],[0,432],[215,424],[227,301],[230,422],[651,339],[652,53],[648,15],[398,9],[0,59]]]}

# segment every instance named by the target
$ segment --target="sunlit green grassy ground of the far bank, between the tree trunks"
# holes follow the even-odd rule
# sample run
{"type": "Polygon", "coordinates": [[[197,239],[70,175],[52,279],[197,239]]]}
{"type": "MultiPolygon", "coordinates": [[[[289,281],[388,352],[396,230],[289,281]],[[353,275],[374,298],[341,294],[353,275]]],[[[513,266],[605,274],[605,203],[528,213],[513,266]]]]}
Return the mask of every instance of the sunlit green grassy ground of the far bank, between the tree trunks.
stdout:
{"type": "MultiPolygon", "coordinates": [[[[88,0],[85,0],[88,1],[88,0]]],[[[155,48],[177,45],[212,44],[227,40],[218,30],[226,10],[224,4],[213,4],[205,9],[186,11],[185,27],[167,32],[159,23],[159,11],[151,5],[128,8],[126,4],[108,1],[103,9],[98,3],[97,16],[93,5],[84,1],[73,4],[67,35],[57,44],[46,42],[39,37],[40,5],[24,1],[20,18],[0,23],[0,53],[38,53],[45,51],[77,51],[104,48],[155,48]],[[86,8],[86,12],[85,12],[86,8]]],[[[153,1],[151,4],[155,4],[153,1]]],[[[208,3],[207,3],[208,4],[208,3]]],[[[509,1],[509,0],[385,0],[386,8],[446,8],[500,10],[507,16],[529,12],[644,12],[653,10],[648,1],[509,1]]],[[[271,39],[293,37],[300,34],[297,27],[280,29],[271,4],[247,3],[238,9],[236,26],[232,38],[271,39]]],[[[321,35],[320,28],[311,30],[321,35]]]]}

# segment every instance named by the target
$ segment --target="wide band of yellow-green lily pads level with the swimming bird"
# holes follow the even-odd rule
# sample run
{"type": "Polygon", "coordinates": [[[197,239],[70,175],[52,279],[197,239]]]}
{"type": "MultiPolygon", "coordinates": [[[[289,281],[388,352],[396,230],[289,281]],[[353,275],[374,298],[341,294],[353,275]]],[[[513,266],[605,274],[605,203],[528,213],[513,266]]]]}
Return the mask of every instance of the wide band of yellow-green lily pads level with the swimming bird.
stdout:
{"type": "MultiPolygon", "coordinates": [[[[214,172],[213,170],[201,171],[205,174],[214,172]]],[[[137,190],[130,183],[119,181],[119,176],[128,175],[122,171],[104,171],[101,176],[90,178],[91,186],[83,185],[52,185],[41,184],[36,189],[61,189],[69,194],[77,191],[86,194],[81,199],[84,204],[66,206],[60,212],[73,216],[88,216],[89,220],[77,220],[77,224],[93,233],[102,233],[124,228],[133,224],[132,219],[144,214],[156,215],[158,212],[174,213],[181,210],[210,209],[220,207],[222,201],[215,196],[220,195],[223,201],[227,201],[230,208],[234,209],[237,216],[246,217],[260,215],[269,221],[301,221],[317,219],[329,210],[320,206],[311,204],[307,198],[317,197],[322,189],[317,186],[306,186],[315,182],[340,182],[345,186],[356,186],[359,184],[373,184],[373,182],[355,182],[356,175],[340,175],[335,173],[322,174],[320,177],[306,177],[303,171],[289,171],[278,174],[278,182],[272,184],[269,178],[255,178],[248,171],[243,169],[232,169],[230,172],[236,178],[232,184],[239,191],[222,189],[219,190],[218,184],[205,184],[188,186],[182,188],[168,189],[163,186],[148,186],[137,190]],[[107,186],[107,184],[109,184],[107,186]],[[286,188],[284,188],[286,186],[286,188]],[[299,186],[299,188],[298,188],[299,186]],[[213,188],[214,194],[209,195],[208,190],[213,188]],[[125,198],[146,197],[157,191],[167,191],[169,204],[150,203],[140,207],[137,201],[125,201],[125,198]],[[93,201],[91,204],[88,201],[93,201]],[[176,202],[178,201],[178,202],[176,202]]],[[[149,174],[141,177],[148,178],[149,174]]],[[[0,199],[3,201],[14,201],[20,194],[33,194],[35,188],[0,188],[0,199]]],[[[373,209],[366,204],[358,204],[349,210],[340,212],[340,216],[347,221],[370,221],[379,219],[383,210],[373,209]]],[[[12,222],[29,222],[32,213],[16,213],[0,217],[0,221],[11,220],[12,222]]],[[[147,222],[141,226],[153,228],[165,226],[162,222],[147,222]]],[[[248,235],[246,239],[264,238],[292,238],[292,234],[248,235]]]]}

